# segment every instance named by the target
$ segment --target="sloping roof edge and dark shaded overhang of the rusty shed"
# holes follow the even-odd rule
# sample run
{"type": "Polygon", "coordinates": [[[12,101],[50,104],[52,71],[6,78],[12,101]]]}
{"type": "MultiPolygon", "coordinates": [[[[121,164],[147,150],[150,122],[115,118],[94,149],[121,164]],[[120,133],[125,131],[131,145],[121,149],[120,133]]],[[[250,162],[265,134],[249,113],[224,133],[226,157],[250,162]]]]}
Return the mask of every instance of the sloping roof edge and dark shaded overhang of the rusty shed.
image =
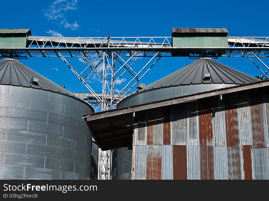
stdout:
{"type": "Polygon", "coordinates": [[[116,149],[131,146],[136,112],[267,86],[269,86],[269,80],[264,80],[229,88],[180,96],[178,98],[92,113],[84,115],[83,118],[86,120],[95,142],[102,150],[116,149]]]}

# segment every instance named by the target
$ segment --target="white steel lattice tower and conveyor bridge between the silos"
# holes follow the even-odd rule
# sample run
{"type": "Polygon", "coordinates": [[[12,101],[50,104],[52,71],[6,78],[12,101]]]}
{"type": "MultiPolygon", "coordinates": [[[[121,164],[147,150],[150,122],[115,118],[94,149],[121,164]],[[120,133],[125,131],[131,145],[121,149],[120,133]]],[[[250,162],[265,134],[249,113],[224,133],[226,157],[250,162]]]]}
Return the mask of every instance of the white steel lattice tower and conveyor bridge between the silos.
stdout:
{"type": "MultiPolygon", "coordinates": [[[[269,37],[229,37],[229,46],[224,48],[179,48],[172,47],[171,37],[99,37],[65,38],[28,36],[27,48],[0,48],[0,58],[28,59],[31,57],[59,57],[87,87],[84,95],[96,111],[113,109],[160,60],[161,57],[247,57],[268,78],[269,67],[261,60],[269,57],[269,37]],[[81,72],[68,62],[79,57],[87,65],[81,72]],[[141,57],[148,58],[144,64],[134,67],[141,57]],[[259,67],[256,58],[265,67],[259,67]],[[263,67],[263,68],[264,68],[263,67]],[[93,90],[86,79],[90,75],[100,79],[102,92],[93,90]],[[119,92],[115,83],[129,75],[129,80],[119,92]]],[[[82,96],[83,97],[83,96],[82,96]]],[[[99,150],[99,179],[111,178],[111,151],[99,150]]]]}

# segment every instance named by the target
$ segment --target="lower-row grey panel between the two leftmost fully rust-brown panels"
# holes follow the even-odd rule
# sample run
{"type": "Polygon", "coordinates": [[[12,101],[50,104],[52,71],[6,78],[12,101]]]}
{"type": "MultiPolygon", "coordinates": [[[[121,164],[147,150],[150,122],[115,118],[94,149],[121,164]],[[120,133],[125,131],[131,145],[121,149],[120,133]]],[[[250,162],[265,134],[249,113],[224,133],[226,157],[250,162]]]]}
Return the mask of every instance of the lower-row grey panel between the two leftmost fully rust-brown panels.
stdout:
{"type": "Polygon", "coordinates": [[[188,179],[201,179],[200,146],[188,148],[188,179]]]}

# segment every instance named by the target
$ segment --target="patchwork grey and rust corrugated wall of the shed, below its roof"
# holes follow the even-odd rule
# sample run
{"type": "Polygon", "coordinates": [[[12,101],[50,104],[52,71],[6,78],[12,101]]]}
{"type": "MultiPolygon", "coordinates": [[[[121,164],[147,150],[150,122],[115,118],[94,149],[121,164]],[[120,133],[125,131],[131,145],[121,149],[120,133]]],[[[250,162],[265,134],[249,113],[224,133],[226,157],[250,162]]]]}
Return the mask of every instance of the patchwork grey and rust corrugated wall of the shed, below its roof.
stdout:
{"type": "Polygon", "coordinates": [[[136,114],[135,179],[269,179],[267,91],[136,114]]]}

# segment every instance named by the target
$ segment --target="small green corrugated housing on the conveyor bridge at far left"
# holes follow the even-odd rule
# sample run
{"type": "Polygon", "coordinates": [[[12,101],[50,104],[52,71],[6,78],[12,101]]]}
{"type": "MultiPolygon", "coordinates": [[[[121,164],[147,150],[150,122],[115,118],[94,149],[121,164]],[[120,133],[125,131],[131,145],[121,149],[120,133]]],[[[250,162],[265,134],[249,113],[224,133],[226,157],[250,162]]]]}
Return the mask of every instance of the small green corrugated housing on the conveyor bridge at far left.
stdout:
{"type": "Polygon", "coordinates": [[[0,48],[25,48],[30,29],[0,29],[0,48]]]}

